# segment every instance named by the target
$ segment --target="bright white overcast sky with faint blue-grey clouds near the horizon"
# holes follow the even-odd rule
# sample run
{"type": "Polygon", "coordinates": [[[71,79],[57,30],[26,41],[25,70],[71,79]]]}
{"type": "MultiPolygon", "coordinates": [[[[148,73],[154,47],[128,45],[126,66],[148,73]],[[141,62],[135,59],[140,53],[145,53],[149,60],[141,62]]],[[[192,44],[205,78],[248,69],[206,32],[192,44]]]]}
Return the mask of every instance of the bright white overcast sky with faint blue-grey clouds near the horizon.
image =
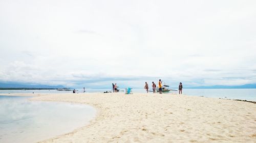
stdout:
{"type": "Polygon", "coordinates": [[[256,1],[0,0],[0,81],[256,83],[256,1]]]}

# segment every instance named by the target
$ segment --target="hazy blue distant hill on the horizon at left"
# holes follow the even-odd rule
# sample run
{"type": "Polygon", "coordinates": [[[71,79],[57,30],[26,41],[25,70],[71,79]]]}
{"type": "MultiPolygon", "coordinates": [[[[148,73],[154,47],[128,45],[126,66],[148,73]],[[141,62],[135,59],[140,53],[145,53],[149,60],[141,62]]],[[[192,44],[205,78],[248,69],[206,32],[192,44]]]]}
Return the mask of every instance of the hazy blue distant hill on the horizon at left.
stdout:
{"type": "Polygon", "coordinates": [[[33,89],[57,89],[66,88],[62,85],[45,85],[19,82],[0,82],[0,88],[33,88],[33,89]]]}

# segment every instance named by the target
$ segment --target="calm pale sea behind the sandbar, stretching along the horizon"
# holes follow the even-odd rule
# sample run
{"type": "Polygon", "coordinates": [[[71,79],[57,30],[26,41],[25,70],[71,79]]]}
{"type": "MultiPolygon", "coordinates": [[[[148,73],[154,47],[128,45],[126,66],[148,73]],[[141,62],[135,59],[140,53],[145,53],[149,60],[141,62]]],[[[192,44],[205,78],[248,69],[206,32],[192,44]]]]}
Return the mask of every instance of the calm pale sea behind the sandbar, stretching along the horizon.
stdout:
{"type": "MultiPolygon", "coordinates": [[[[124,91],[124,89],[120,89],[124,91]]],[[[87,89],[86,93],[105,92],[110,89],[87,89]]],[[[72,91],[57,90],[0,90],[1,93],[72,93],[72,91]]],[[[133,89],[134,93],[146,93],[144,89],[133,89]]],[[[83,93],[82,89],[78,89],[78,93],[83,93]]],[[[178,93],[172,91],[170,93],[178,93]]],[[[204,96],[212,98],[228,98],[256,101],[256,89],[183,89],[183,94],[191,96],[204,96]]]]}

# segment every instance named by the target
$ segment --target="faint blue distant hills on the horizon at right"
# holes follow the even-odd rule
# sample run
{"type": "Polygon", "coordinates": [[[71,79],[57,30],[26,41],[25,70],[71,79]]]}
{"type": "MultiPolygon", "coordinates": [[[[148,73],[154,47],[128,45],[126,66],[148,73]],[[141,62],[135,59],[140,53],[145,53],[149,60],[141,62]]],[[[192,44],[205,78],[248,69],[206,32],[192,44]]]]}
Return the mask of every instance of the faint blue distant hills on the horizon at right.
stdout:
{"type": "Polygon", "coordinates": [[[236,85],[236,86],[213,85],[213,86],[201,86],[201,87],[184,87],[184,89],[256,89],[256,84],[244,84],[244,85],[236,85]]]}

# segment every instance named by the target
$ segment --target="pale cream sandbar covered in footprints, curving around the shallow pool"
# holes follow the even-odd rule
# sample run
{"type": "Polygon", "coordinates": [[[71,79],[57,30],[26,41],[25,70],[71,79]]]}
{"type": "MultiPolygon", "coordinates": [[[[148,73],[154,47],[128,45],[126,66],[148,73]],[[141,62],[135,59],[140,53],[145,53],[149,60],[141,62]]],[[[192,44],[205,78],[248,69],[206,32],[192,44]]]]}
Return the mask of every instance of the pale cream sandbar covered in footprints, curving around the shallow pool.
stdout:
{"type": "Polygon", "coordinates": [[[248,102],[123,93],[36,94],[32,100],[97,109],[89,125],[41,142],[256,142],[256,104],[248,102]]]}

